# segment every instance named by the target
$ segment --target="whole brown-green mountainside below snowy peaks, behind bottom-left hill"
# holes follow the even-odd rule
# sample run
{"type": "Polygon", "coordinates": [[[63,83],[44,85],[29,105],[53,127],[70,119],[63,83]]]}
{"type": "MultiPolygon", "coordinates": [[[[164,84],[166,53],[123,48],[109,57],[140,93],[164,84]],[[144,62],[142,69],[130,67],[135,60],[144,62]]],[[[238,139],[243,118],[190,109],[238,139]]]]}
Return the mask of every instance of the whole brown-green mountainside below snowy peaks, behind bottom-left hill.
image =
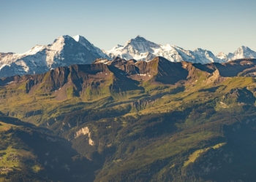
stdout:
{"type": "MultiPolygon", "coordinates": [[[[0,111],[58,138],[64,158],[54,169],[88,169],[61,178],[40,158],[53,181],[255,181],[255,64],[101,59],[0,79],[0,111]]],[[[13,123],[2,122],[6,137],[13,123]]],[[[41,146],[29,147],[39,157],[41,146]]]]}

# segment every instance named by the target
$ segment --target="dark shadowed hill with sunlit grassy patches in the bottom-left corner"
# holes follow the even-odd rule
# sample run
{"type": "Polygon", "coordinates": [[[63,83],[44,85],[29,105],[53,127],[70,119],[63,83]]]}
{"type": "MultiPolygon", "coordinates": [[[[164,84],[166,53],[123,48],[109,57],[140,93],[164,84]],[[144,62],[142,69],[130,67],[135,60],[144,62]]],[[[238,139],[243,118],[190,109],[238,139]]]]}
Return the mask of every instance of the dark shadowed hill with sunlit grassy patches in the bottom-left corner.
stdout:
{"type": "Polygon", "coordinates": [[[0,181],[94,179],[97,166],[50,130],[0,114],[0,138],[0,181]]]}

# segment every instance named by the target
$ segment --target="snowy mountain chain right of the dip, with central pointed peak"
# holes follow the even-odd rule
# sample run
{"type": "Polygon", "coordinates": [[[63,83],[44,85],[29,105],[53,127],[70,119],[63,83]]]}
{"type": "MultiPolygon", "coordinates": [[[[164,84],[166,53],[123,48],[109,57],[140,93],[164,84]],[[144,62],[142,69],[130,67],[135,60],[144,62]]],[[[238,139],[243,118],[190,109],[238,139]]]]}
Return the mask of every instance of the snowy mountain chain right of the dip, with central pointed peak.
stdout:
{"type": "Polygon", "coordinates": [[[233,54],[225,55],[220,52],[215,56],[211,51],[197,48],[194,51],[184,50],[175,45],[161,45],[137,36],[135,39],[127,41],[124,46],[116,45],[113,49],[105,51],[110,58],[120,57],[126,60],[151,60],[156,56],[162,56],[172,62],[188,61],[191,63],[225,63],[228,60],[241,58],[256,58],[256,52],[249,47],[239,47],[233,54]]]}

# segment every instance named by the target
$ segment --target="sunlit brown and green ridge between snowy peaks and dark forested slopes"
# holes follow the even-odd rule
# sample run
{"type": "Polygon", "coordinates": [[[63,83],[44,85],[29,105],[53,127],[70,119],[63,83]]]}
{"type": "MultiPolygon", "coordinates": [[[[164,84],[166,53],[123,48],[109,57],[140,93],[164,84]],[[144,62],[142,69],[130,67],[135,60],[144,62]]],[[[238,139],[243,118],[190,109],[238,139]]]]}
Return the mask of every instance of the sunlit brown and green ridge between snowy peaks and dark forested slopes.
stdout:
{"type": "Polygon", "coordinates": [[[0,111],[34,124],[71,111],[120,104],[131,105],[130,114],[147,113],[146,108],[151,107],[155,112],[165,112],[190,101],[214,99],[236,87],[254,87],[253,77],[238,76],[252,74],[248,69],[252,70],[253,61],[241,60],[225,66],[231,67],[231,71],[239,67],[235,76],[227,75],[220,64],[172,63],[160,57],[150,62],[116,58],[108,64],[75,65],[46,74],[12,76],[1,79],[0,111]]]}

